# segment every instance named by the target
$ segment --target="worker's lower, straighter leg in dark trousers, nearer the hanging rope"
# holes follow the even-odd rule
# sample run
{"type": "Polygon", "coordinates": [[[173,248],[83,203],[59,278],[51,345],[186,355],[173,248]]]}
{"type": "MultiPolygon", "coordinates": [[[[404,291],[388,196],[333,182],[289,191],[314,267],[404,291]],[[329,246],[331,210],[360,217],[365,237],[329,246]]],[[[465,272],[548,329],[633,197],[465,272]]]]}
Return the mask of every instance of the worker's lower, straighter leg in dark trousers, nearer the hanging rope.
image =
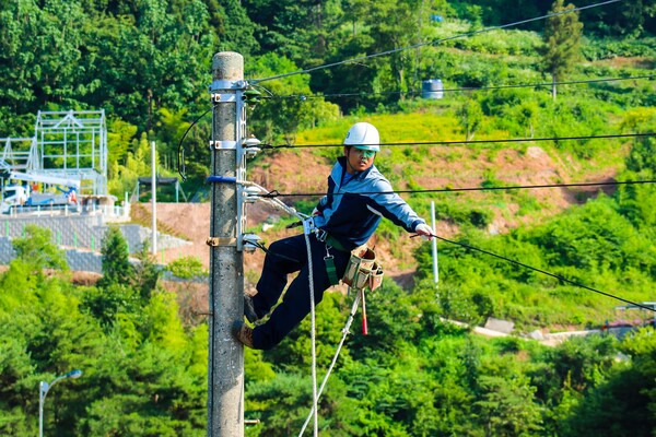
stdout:
{"type": "MultiPolygon", "coordinates": [[[[303,236],[301,236],[303,238],[303,236]]],[[[326,256],[326,245],[317,241],[311,236],[312,259],[313,259],[313,280],[315,288],[315,305],[324,298],[324,292],[330,287],[330,281],[326,273],[324,257],[326,256]]],[[[307,258],[307,249],[303,255],[307,258]]],[[[332,249],[330,253],[335,257],[338,277],[343,276],[347,263],[351,253],[340,252],[332,249]]],[[[266,323],[256,327],[253,331],[253,342],[256,349],[271,349],[285,338],[301,320],[309,314],[309,267],[305,264],[298,276],[292,281],[285,292],[282,302],[276,307],[269,320],[266,323]]]]}

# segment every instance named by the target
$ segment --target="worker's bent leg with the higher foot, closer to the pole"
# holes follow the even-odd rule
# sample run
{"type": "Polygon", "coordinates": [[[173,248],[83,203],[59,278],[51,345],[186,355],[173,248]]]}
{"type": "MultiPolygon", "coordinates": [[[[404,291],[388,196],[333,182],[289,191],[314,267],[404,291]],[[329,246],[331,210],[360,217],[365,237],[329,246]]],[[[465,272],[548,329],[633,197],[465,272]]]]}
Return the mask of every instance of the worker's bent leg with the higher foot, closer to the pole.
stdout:
{"type": "Polygon", "coordinates": [[[267,315],[278,303],[286,285],[288,274],[297,272],[306,263],[307,249],[303,235],[283,238],[269,246],[262,274],[257,283],[257,294],[251,297],[253,308],[258,319],[267,315]]]}

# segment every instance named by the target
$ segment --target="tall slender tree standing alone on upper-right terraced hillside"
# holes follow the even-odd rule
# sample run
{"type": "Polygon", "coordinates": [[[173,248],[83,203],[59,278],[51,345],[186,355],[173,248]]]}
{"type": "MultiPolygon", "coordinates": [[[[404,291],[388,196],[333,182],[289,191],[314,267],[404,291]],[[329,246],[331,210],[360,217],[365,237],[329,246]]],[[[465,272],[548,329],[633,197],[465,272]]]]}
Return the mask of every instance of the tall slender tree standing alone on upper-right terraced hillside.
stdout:
{"type": "Polygon", "coordinates": [[[551,74],[551,96],[555,101],[557,85],[574,69],[581,58],[581,36],[583,23],[578,21],[578,12],[563,13],[573,10],[573,4],[563,5],[564,0],[555,0],[550,13],[560,15],[547,19],[544,28],[544,48],[542,49],[542,71],[551,74]]]}

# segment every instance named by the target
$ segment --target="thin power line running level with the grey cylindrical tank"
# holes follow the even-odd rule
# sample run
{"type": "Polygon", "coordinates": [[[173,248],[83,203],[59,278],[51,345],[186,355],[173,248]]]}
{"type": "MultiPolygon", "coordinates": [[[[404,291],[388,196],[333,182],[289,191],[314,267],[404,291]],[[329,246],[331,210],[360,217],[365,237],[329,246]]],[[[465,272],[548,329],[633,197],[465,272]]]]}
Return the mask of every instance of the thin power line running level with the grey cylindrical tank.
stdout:
{"type": "MultiPolygon", "coordinates": [[[[472,92],[472,91],[488,91],[488,90],[506,90],[506,88],[534,88],[539,86],[552,86],[552,85],[577,85],[577,84],[588,84],[588,83],[599,83],[599,82],[619,82],[619,81],[630,81],[637,79],[654,79],[656,78],[653,74],[649,75],[636,75],[630,78],[604,78],[604,79],[590,79],[590,80],[581,80],[581,81],[565,81],[565,82],[539,82],[539,83],[524,83],[524,84],[508,84],[508,85],[492,85],[492,86],[464,86],[458,88],[444,88],[436,90],[434,92],[438,93],[457,93],[457,92],[472,92]]],[[[326,98],[326,97],[365,97],[371,95],[395,95],[395,94],[406,94],[406,95],[419,95],[421,91],[387,91],[387,92],[377,92],[377,93],[335,93],[335,94],[315,94],[315,95],[305,95],[305,94],[288,94],[280,96],[263,96],[260,98],[300,98],[301,101],[306,101],[309,98],[326,98]]]]}

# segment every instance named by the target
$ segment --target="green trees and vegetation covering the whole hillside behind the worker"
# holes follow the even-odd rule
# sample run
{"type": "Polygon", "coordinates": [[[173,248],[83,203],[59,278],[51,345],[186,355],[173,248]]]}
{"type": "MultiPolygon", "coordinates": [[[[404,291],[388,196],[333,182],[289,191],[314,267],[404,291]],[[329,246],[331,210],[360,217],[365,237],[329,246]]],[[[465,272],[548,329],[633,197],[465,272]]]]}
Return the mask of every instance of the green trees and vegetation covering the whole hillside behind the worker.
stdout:
{"type": "MultiPolygon", "coordinates": [[[[8,0],[0,3],[0,133],[30,135],[39,109],[104,108],[109,186],[122,197],[137,176],[150,172],[150,140],[157,141],[162,172],[174,173],[181,133],[208,108],[216,51],[242,52],[246,76],[266,78],[537,16],[550,3],[8,0]]],[[[579,14],[583,59],[564,79],[653,74],[655,3],[626,4],[579,14]]],[[[258,90],[265,97],[296,97],[262,98],[249,109],[249,127],[263,141],[289,144],[340,141],[363,119],[389,142],[656,130],[656,93],[647,79],[562,85],[557,101],[548,85],[417,98],[421,81],[430,78],[441,78],[447,90],[548,83],[538,68],[542,29],[543,23],[529,23],[263,82],[258,90]],[[321,97],[333,93],[349,95],[321,97]]],[[[210,131],[209,117],[202,118],[186,140],[187,192],[208,174],[210,131]]],[[[653,179],[656,172],[653,138],[540,146],[564,163],[569,173],[559,177],[576,179],[595,166],[612,168],[619,180],[653,179]]],[[[492,161],[503,149],[527,151],[523,144],[471,145],[469,155],[453,150],[444,156],[492,161]]],[[[316,153],[327,162],[337,154],[316,153]]],[[[395,187],[434,188],[418,182],[431,176],[421,164],[432,156],[426,146],[389,147],[377,165],[395,187]]],[[[506,177],[490,168],[481,186],[505,185],[506,177]]],[[[424,216],[430,200],[408,197],[424,216]]],[[[458,241],[632,300],[654,300],[652,185],[591,196],[549,220],[540,215],[549,205],[525,192],[477,199],[446,193],[435,200],[438,217],[459,226],[458,241]],[[494,214],[511,214],[505,209],[511,202],[532,224],[490,235],[494,214]]],[[[384,224],[379,233],[402,247],[405,236],[394,226],[384,224]]],[[[129,262],[116,229],[103,244],[104,276],[96,286],[74,285],[49,240],[43,229],[28,228],[25,238],[13,240],[17,258],[0,275],[0,434],[34,435],[38,381],[79,368],[80,379],[63,380],[48,394],[46,434],[204,435],[207,324],[183,321],[189,308],[179,308],[157,285],[160,270],[145,252],[139,264],[129,262]]],[[[557,347],[520,338],[481,339],[443,318],[470,323],[507,318],[522,332],[595,328],[613,317],[616,303],[443,243],[435,288],[427,245],[414,257],[420,268],[411,292],[386,280],[367,300],[371,334],[347,341],[319,404],[323,435],[654,435],[652,328],[621,342],[597,335],[557,347]]],[[[180,277],[203,274],[192,259],[168,270],[180,277]]],[[[349,307],[350,298],[339,294],[327,294],[318,307],[320,369],[349,307]]],[[[305,320],[273,351],[246,352],[246,416],[261,420],[246,435],[300,429],[312,393],[308,329],[305,320]]]]}

